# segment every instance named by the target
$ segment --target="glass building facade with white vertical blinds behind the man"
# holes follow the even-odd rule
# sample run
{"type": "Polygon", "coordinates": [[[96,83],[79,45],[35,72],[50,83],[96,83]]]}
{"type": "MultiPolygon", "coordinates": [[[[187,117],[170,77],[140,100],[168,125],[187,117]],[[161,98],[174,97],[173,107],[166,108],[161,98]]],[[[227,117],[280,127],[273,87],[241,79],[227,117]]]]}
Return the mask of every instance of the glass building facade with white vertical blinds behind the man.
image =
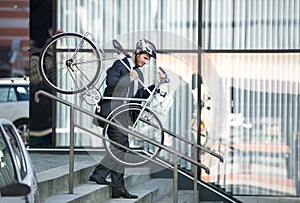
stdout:
{"type": "MultiPolygon", "coordinates": [[[[90,32],[107,56],[112,39],[131,51],[140,38],[156,44],[157,60],[143,68],[146,83],[157,66],[171,83],[153,108],[167,129],[192,141],[200,135],[203,146],[225,158],[219,163],[201,154],[211,170],[202,180],[234,195],[300,195],[298,0],[57,0],[54,6],[53,30],[90,32]]],[[[93,111],[76,96],[66,99],[93,111]]],[[[69,110],[56,108],[55,145],[66,146],[69,110]]],[[[76,120],[94,128],[91,118],[76,120]]],[[[75,143],[102,146],[79,131],[75,143]]],[[[172,137],[165,144],[191,154],[191,146],[172,137]]],[[[192,168],[183,160],[180,167],[192,168]]]]}

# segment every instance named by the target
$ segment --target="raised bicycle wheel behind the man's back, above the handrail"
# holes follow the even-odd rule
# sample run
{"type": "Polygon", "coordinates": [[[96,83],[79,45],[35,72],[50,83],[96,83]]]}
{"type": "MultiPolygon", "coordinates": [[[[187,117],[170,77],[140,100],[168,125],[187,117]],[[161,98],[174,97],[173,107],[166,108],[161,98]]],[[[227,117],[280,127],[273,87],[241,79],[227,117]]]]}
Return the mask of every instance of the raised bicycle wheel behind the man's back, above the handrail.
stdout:
{"type": "Polygon", "coordinates": [[[40,55],[45,83],[63,94],[76,94],[97,82],[102,58],[96,45],[78,33],[53,36],[40,55]]]}

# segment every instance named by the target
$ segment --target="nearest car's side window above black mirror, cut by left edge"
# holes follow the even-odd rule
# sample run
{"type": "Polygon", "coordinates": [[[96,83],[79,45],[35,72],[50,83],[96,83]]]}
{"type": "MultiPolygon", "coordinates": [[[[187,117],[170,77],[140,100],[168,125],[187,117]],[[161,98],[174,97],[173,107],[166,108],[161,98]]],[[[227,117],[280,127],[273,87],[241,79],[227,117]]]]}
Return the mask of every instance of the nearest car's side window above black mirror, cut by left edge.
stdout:
{"type": "Polygon", "coordinates": [[[0,187],[17,182],[14,164],[0,130],[0,187]]]}

